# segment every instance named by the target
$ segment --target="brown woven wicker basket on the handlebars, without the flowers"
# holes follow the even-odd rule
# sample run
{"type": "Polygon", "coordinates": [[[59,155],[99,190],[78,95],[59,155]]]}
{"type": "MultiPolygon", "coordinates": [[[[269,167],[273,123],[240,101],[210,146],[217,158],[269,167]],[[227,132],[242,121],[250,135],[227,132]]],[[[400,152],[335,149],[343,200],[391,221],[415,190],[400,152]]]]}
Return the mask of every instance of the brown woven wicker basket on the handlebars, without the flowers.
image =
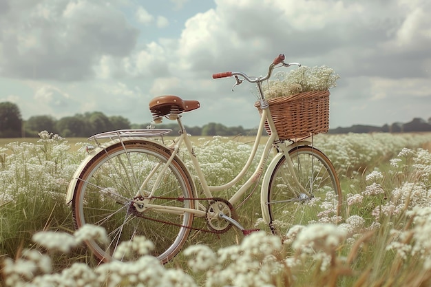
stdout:
{"type": "MultiPolygon", "coordinates": [[[[282,140],[306,138],[329,129],[329,91],[304,92],[268,100],[277,134],[282,140]]],[[[259,110],[260,103],[255,107],[259,110]]],[[[271,134],[268,123],[265,129],[271,134]]]]}

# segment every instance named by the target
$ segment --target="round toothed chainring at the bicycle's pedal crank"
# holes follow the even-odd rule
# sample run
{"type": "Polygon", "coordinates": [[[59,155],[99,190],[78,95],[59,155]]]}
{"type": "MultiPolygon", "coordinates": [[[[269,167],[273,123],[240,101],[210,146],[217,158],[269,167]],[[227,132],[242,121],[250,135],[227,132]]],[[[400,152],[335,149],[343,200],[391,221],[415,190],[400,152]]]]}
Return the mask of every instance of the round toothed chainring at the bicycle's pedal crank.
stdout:
{"type": "Polygon", "coordinates": [[[223,198],[213,198],[209,202],[205,218],[208,228],[214,233],[224,233],[232,227],[231,223],[219,217],[220,213],[236,220],[236,214],[231,202],[223,198]]]}

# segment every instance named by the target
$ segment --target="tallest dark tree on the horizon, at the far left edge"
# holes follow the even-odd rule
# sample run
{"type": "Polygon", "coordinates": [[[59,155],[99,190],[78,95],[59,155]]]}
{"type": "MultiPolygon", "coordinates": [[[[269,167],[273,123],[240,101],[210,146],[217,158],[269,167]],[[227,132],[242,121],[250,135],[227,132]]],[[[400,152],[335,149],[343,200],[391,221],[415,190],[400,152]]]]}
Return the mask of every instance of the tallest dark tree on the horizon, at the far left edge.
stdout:
{"type": "Polygon", "coordinates": [[[0,137],[19,138],[22,134],[23,119],[19,107],[10,102],[0,103],[0,137]]]}

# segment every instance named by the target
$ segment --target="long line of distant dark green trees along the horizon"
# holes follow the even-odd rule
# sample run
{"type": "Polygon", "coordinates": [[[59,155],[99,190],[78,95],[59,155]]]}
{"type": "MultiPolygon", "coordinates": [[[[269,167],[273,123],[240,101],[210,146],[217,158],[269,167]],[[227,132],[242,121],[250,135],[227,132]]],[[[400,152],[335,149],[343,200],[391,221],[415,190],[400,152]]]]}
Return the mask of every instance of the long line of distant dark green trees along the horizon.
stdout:
{"type": "MultiPolygon", "coordinates": [[[[19,107],[10,102],[0,103],[0,138],[37,138],[40,131],[49,131],[64,138],[87,138],[103,131],[116,129],[148,129],[149,124],[132,124],[123,116],[106,116],[101,111],[86,112],[65,116],[56,120],[52,116],[31,116],[23,120],[19,107]]],[[[168,123],[157,125],[158,129],[172,129],[173,135],[178,134],[178,125],[168,123]]],[[[256,129],[244,129],[242,126],[226,127],[220,123],[209,123],[202,127],[186,127],[193,136],[237,136],[255,135],[256,129]]],[[[410,123],[393,123],[375,127],[369,125],[353,125],[330,129],[329,134],[370,133],[370,132],[416,132],[431,131],[431,118],[428,122],[414,118],[410,123]]],[[[266,134],[266,131],[263,131],[266,134]]]]}

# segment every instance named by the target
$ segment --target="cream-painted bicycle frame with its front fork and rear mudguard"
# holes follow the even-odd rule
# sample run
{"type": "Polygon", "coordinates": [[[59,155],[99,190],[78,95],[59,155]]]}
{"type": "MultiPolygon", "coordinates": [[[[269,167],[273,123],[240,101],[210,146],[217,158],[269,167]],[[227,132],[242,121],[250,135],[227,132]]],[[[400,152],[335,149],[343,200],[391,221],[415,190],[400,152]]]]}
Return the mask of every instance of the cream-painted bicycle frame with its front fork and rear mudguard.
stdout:
{"type": "MultiPolygon", "coordinates": [[[[178,124],[182,128],[182,133],[175,140],[175,147],[172,147],[174,149],[171,153],[169,160],[167,160],[167,162],[165,164],[160,163],[156,167],[154,167],[154,170],[149,173],[146,180],[144,180],[143,184],[141,184],[140,189],[136,192],[136,198],[138,196],[143,196],[145,198],[144,200],[135,200],[135,207],[136,207],[137,211],[143,212],[145,210],[151,209],[153,211],[166,212],[166,213],[182,214],[185,212],[189,212],[189,213],[193,213],[194,215],[196,215],[198,217],[205,216],[206,215],[206,209],[202,204],[199,204],[199,200],[204,200],[204,198],[200,198],[199,200],[196,199],[195,204],[194,204],[195,207],[193,209],[187,209],[187,208],[176,207],[176,206],[162,206],[162,205],[158,205],[158,204],[151,204],[151,196],[157,196],[154,193],[158,187],[158,184],[162,180],[162,176],[159,176],[159,178],[156,179],[156,182],[154,183],[154,187],[150,191],[150,194],[148,195],[148,193],[147,193],[148,191],[146,191],[145,194],[143,193],[143,191],[145,189],[145,186],[147,185],[147,182],[149,182],[149,178],[151,178],[151,176],[154,176],[156,169],[158,169],[160,167],[162,168],[162,171],[160,172],[160,174],[163,174],[163,171],[165,171],[166,169],[169,168],[169,164],[172,162],[172,160],[174,160],[175,156],[178,154],[180,146],[185,145],[187,147],[187,151],[188,151],[189,156],[191,158],[193,168],[196,171],[199,183],[202,186],[202,191],[203,191],[205,197],[206,198],[213,198],[214,197],[213,193],[216,193],[218,191],[223,191],[225,189],[229,189],[229,188],[233,187],[233,185],[236,184],[238,181],[240,181],[242,178],[244,178],[246,171],[248,171],[248,169],[251,167],[251,164],[253,163],[253,160],[255,160],[257,148],[259,147],[260,140],[262,138],[262,132],[263,132],[264,125],[265,125],[265,120],[268,121],[269,127],[271,128],[271,136],[269,136],[268,140],[266,141],[266,144],[264,145],[264,151],[263,151],[262,156],[260,158],[260,162],[257,164],[257,168],[255,169],[255,171],[253,172],[251,177],[248,180],[246,180],[246,182],[242,185],[242,187],[240,187],[240,189],[238,189],[238,191],[236,191],[232,195],[232,197],[229,199],[229,202],[232,205],[234,205],[236,202],[238,202],[240,200],[240,198],[242,197],[242,195],[244,195],[246,190],[249,189],[249,187],[251,187],[252,184],[254,184],[258,180],[260,180],[262,173],[264,173],[264,178],[262,181],[261,195],[260,195],[260,197],[261,197],[260,203],[261,203],[261,209],[262,209],[262,217],[266,223],[269,223],[269,220],[270,220],[269,219],[269,210],[268,210],[268,206],[267,206],[267,204],[268,204],[267,199],[268,199],[268,192],[269,192],[268,191],[269,181],[271,180],[271,175],[272,175],[272,173],[276,167],[277,162],[280,161],[282,156],[286,157],[288,171],[296,182],[298,194],[304,193],[304,194],[308,195],[308,197],[310,196],[310,193],[308,193],[308,191],[306,191],[306,189],[304,189],[304,187],[302,187],[302,184],[300,184],[299,181],[297,180],[295,169],[293,169],[293,162],[292,162],[291,157],[289,156],[288,152],[291,149],[294,149],[295,147],[298,147],[298,146],[311,145],[311,142],[309,142],[307,140],[302,140],[299,142],[293,142],[293,143],[291,143],[291,145],[286,145],[286,143],[284,141],[281,141],[278,138],[277,131],[275,130],[275,126],[274,126],[273,120],[271,118],[271,111],[269,111],[269,109],[262,109],[262,116],[260,119],[259,128],[257,130],[255,142],[253,144],[252,151],[250,153],[249,159],[247,160],[246,164],[244,165],[244,167],[242,168],[240,173],[238,173],[238,175],[235,176],[235,178],[233,178],[233,180],[231,180],[230,182],[227,182],[226,184],[222,184],[220,186],[209,186],[207,184],[207,180],[204,176],[204,173],[202,172],[202,169],[200,169],[200,164],[198,162],[198,158],[196,158],[196,156],[194,155],[193,146],[192,146],[191,140],[189,138],[190,136],[187,134],[184,127],[182,126],[180,118],[178,118],[177,120],[178,120],[178,124]],[[269,163],[268,167],[265,168],[266,161],[269,158],[269,153],[270,153],[271,149],[273,149],[275,151],[275,156],[273,157],[273,159],[269,163]]],[[[133,131],[133,130],[131,130],[131,131],[133,131]]],[[[119,138],[120,142],[123,142],[123,140],[127,140],[127,138],[128,138],[128,137],[125,137],[123,139],[121,136],[119,136],[119,137],[120,137],[119,138]]],[[[97,138],[97,135],[93,136],[92,138],[97,138]]],[[[134,138],[134,139],[136,140],[136,138],[134,138]]],[[[139,139],[154,142],[154,140],[149,140],[147,138],[139,138],[139,139]]],[[[159,142],[156,142],[156,143],[158,145],[160,145],[159,142]]],[[[108,143],[108,145],[109,145],[109,143],[108,143]]],[[[90,155],[87,156],[87,158],[85,160],[83,160],[83,162],[81,162],[80,167],[76,170],[76,173],[74,175],[74,178],[72,179],[72,182],[75,182],[75,184],[76,184],[76,182],[78,180],[81,180],[78,177],[81,174],[83,167],[85,167],[85,165],[88,162],[90,162],[90,160],[92,159],[92,156],[94,156],[95,154],[97,154],[100,151],[103,151],[103,149],[106,149],[106,148],[107,148],[106,146],[99,145],[99,147],[94,149],[94,151],[92,151],[92,153],[90,153],[90,155]]],[[[186,172],[188,174],[190,174],[190,172],[188,170],[186,172]]],[[[288,175],[286,175],[286,176],[288,176],[288,175]]],[[[70,184],[70,187],[67,190],[66,203],[69,203],[72,201],[74,189],[72,189],[71,187],[74,187],[75,184],[70,184]]],[[[196,185],[196,182],[195,182],[195,185],[196,185]]],[[[197,198],[198,195],[196,194],[196,186],[193,186],[192,188],[193,188],[193,192],[195,193],[193,196],[195,196],[197,198]]]]}

